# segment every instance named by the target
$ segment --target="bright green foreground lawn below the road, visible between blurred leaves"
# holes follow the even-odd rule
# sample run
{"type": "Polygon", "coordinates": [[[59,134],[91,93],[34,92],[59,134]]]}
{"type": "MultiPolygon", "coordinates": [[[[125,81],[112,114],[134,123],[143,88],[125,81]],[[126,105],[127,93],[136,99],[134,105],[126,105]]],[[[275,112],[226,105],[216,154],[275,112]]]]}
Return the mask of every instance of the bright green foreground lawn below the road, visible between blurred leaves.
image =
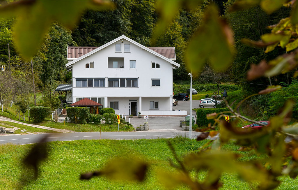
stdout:
{"type": "MultiPolygon", "coordinates": [[[[188,138],[170,139],[179,157],[187,152],[195,151],[204,141],[189,140],[188,138]]],[[[157,140],[77,140],[50,142],[49,157],[41,163],[40,176],[36,181],[27,184],[24,189],[163,189],[156,177],[156,170],[160,167],[173,171],[168,159],[173,155],[167,146],[166,139],[157,140]],[[151,163],[147,178],[143,183],[115,182],[104,177],[94,177],[91,180],[79,180],[83,172],[94,171],[103,168],[105,162],[112,157],[125,157],[129,155],[145,157],[151,163]]],[[[0,146],[0,189],[15,189],[21,176],[27,173],[21,169],[21,160],[32,144],[15,146],[6,144],[0,146]]],[[[237,151],[239,147],[229,143],[222,149],[237,151]]],[[[259,159],[251,152],[238,152],[243,160],[259,159]]],[[[201,172],[199,180],[207,175],[201,172]]],[[[279,178],[281,184],[277,189],[296,190],[298,180],[288,176],[279,178]]],[[[248,190],[255,184],[246,183],[238,179],[237,174],[223,174],[221,182],[222,190],[241,189],[248,190]]],[[[188,189],[181,186],[177,189],[188,189]]]]}

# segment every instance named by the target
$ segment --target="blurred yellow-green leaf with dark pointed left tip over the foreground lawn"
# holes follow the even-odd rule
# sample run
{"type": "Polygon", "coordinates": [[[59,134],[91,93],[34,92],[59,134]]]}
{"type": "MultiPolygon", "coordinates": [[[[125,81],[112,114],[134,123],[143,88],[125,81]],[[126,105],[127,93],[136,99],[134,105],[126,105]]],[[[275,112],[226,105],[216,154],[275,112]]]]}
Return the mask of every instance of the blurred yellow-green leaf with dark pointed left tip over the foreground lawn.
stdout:
{"type": "Polygon", "coordinates": [[[137,157],[114,158],[108,161],[104,169],[81,174],[81,179],[105,175],[115,180],[143,181],[148,170],[148,163],[137,157]]]}

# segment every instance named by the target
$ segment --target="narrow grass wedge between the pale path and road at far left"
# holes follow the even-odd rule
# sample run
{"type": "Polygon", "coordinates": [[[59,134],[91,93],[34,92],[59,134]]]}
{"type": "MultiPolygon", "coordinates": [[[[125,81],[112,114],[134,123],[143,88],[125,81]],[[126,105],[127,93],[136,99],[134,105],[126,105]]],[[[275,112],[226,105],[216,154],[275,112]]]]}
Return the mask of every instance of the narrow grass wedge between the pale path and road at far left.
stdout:
{"type": "Polygon", "coordinates": [[[9,121],[0,121],[0,126],[5,127],[5,128],[13,128],[13,127],[18,127],[20,129],[15,130],[15,134],[29,134],[29,133],[53,133],[55,131],[47,130],[47,129],[40,129],[36,127],[30,127],[27,125],[22,125],[18,123],[13,123],[9,121]],[[25,132],[21,132],[21,130],[27,130],[25,132]]]}

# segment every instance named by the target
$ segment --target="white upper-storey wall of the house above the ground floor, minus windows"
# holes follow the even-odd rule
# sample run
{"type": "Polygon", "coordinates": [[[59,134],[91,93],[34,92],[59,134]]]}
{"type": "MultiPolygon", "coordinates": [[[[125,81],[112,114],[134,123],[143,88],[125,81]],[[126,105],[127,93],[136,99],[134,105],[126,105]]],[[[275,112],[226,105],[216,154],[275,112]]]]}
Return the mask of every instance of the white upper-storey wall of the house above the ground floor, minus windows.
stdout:
{"type": "Polygon", "coordinates": [[[111,44],[72,66],[73,96],[173,96],[173,68],[169,62],[126,40],[115,44],[122,45],[122,52],[115,52],[115,45],[111,44]],[[130,52],[123,52],[124,44],[130,44],[130,52]],[[108,68],[108,58],[117,57],[124,58],[124,68],[108,68]],[[129,68],[130,60],[136,60],[136,69],[129,68]],[[93,61],[94,69],[85,69],[85,64],[93,61]],[[151,69],[151,62],[160,64],[160,69],[151,69]],[[75,78],[105,78],[105,87],[76,87],[75,78]],[[108,87],[108,78],[138,78],[138,87],[108,87]],[[160,87],[152,87],[151,79],[160,79],[160,87]]]}

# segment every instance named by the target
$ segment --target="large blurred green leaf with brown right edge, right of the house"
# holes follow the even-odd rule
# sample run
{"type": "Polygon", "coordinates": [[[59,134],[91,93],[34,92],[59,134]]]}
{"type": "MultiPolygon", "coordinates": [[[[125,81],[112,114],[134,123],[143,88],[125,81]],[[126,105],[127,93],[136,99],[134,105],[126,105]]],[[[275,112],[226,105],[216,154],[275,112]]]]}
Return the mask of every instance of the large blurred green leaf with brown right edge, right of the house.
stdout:
{"type": "Polygon", "coordinates": [[[226,69],[233,61],[233,43],[232,30],[219,18],[218,10],[210,6],[185,52],[187,64],[194,73],[198,73],[207,60],[216,70],[226,69]]]}

